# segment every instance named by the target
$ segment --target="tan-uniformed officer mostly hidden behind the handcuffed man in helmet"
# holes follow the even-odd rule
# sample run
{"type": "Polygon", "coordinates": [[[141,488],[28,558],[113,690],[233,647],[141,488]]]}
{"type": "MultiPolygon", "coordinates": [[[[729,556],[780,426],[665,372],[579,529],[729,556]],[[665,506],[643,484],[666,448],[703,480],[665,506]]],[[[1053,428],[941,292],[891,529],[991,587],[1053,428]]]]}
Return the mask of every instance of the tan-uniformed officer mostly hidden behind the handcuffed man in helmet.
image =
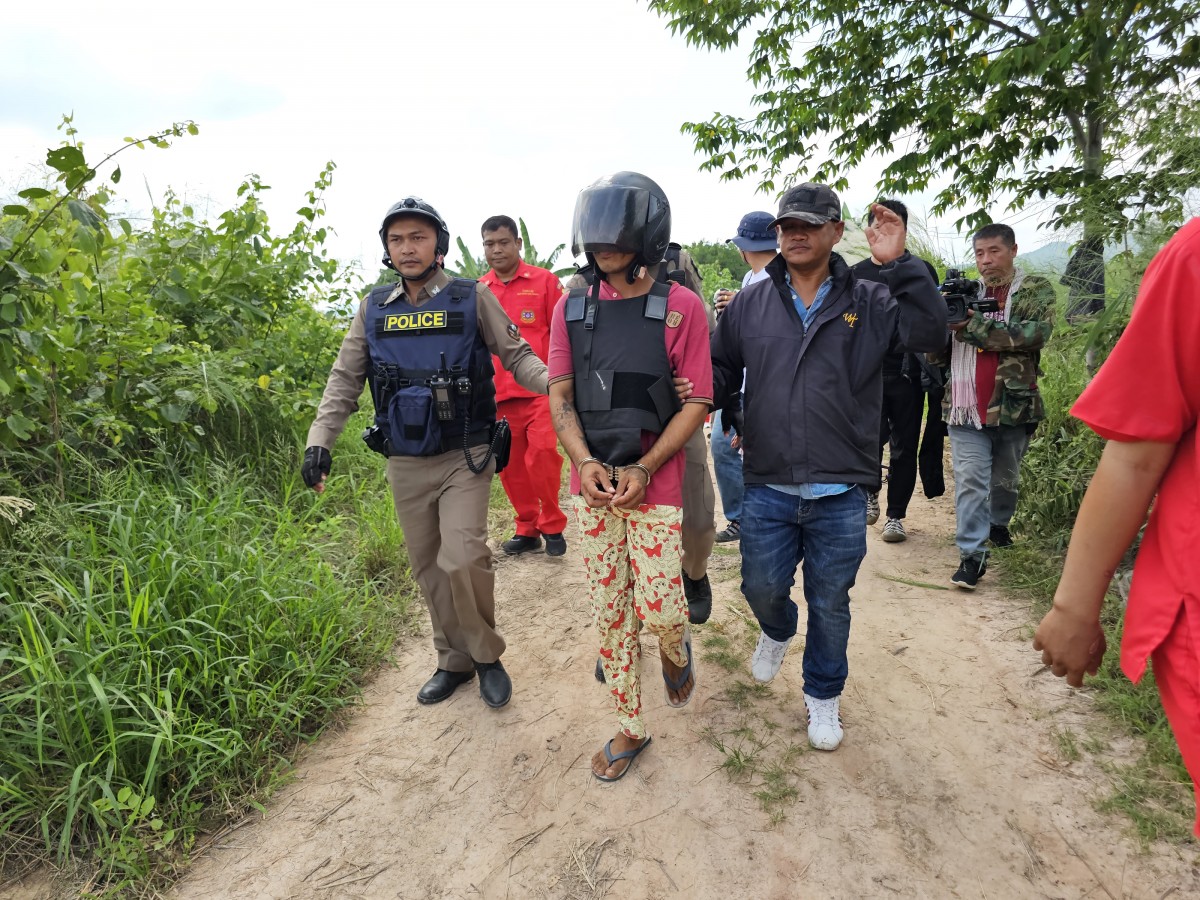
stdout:
{"type": "MultiPolygon", "coordinates": [[[[570,281],[568,289],[587,287],[594,278],[595,266],[589,262],[570,281]]],[[[662,259],[649,268],[650,276],[659,282],[674,282],[688,288],[696,296],[704,296],[703,278],[696,269],[691,254],[674,241],[667,244],[662,259]]],[[[716,326],[713,308],[704,304],[708,331],[716,326]]],[[[697,428],[684,445],[688,460],[683,482],[683,590],[688,598],[691,624],[702,625],[713,612],[713,587],[708,581],[708,558],[716,542],[716,492],[708,470],[708,442],[704,430],[697,428]]],[[[596,668],[596,680],[600,680],[596,668]]]]}

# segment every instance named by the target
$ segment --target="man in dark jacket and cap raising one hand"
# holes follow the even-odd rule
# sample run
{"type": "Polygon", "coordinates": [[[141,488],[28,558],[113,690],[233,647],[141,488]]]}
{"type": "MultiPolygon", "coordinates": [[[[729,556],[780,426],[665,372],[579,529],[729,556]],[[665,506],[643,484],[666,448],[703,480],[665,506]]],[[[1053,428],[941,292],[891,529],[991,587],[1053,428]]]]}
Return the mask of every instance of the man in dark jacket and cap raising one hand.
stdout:
{"type": "Polygon", "coordinates": [[[809,607],[804,704],[809,743],[841,743],[850,588],[866,554],[866,491],[880,490],[883,358],[946,344],[946,304],[904,247],[900,217],[872,206],[866,229],[884,283],[857,281],[833,252],[841,202],[826,185],[787,191],[772,223],[770,277],[743,290],[713,335],[715,402],[746,370],[742,592],[762,628],[751,671],[779,672],[794,637],[791,599],[803,562],[809,607]]]}

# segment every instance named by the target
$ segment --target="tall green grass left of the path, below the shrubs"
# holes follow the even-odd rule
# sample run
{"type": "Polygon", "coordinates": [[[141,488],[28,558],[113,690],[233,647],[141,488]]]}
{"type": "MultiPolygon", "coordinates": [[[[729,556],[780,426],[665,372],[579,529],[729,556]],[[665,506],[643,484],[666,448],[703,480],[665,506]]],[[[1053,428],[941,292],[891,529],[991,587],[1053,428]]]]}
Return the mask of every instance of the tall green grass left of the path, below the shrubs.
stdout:
{"type": "Polygon", "coordinates": [[[402,535],[365,450],[324,497],[298,457],[85,472],[0,534],[5,868],[154,882],[356,701],[413,596],[402,535]]]}

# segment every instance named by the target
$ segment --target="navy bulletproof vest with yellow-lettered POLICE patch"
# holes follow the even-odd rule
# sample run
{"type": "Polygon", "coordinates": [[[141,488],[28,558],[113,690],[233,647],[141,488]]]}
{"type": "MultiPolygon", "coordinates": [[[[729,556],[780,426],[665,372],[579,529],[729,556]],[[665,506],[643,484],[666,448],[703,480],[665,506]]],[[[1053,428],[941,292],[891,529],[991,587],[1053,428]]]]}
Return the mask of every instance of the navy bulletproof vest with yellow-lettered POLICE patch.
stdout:
{"type": "Polygon", "coordinates": [[[367,380],[376,425],[390,437],[390,456],[431,456],[486,444],[496,422],[496,370],[479,334],[474,281],[455,278],[424,306],[400,298],[394,284],[366,301],[367,380]],[[450,382],[454,419],[439,420],[431,383],[450,382]]]}

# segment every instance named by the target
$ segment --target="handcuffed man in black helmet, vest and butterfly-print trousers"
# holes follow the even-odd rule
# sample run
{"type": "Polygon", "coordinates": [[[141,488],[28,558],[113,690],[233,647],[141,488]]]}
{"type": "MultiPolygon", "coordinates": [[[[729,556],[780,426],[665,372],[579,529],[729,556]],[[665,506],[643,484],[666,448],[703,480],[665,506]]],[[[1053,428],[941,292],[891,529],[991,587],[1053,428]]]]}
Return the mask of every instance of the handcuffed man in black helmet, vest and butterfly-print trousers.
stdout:
{"type": "Polygon", "coordinates": [[[571,250],[596,278],[554,307],[551,408],[571,457],[600,658],[618,732],[592,757],[601,781],[624,778],[650,744],[642,716],[641,630],[659,642],[667,704],[695,694],[680,565],[688,439],[712,406],[703,301],[649,274],[671,239],[671,208],[654,181],[618,172],[576,200],[571,250]],[[695,390],[682,404],[673,376],[695,390]]]}

